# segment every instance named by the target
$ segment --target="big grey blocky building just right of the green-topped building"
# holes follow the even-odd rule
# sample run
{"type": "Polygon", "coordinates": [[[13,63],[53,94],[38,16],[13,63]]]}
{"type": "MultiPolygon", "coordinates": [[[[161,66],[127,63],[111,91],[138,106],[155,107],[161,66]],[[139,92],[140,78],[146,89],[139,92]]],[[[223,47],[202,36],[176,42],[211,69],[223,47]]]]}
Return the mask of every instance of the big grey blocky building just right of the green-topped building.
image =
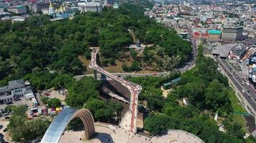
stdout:
{"type": "Polygon", "coordinates": [[[224,41],[242,40],[242,26],[224,26],[221,39],[224,41]]]}

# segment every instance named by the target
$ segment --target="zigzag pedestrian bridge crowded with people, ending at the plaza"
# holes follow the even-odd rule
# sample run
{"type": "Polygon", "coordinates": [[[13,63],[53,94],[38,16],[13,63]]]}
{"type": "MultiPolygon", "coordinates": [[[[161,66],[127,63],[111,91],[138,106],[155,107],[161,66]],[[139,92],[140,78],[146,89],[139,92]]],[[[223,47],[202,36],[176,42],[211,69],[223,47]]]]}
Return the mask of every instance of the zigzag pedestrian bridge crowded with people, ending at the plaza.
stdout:
{"type": "Polygon", "coordinates": [[[124,85],[124,87],[127,87],[129,89],[129,92],[131,93],[131,99],[129,104],[129,112],[125,115],[123,118],[123,121],[121,123],[124,123],[124,120],[126,122],[129,122],[129,124],[120,124],[125,129],[128,129],[130,132],[133,132],[134,134],[137,133],[137,104],[138,104],[138,95],[142,91],[142,87],[138,84],[134,84],[132,82],[128,82],[127,80],[123,79],[122,77],[115,76],[114,74],[109,73],[108,71],[105,71],[101,66],[98,66],[96,63],[97,54],[99,53],[99,48],[91,48],[91,63],[89,64],[89,68],[94,69],[96,71],[99,71],[101,74],[106,75],[106,77],[109,77],[116,82],[121,83],[124,85]]]}

